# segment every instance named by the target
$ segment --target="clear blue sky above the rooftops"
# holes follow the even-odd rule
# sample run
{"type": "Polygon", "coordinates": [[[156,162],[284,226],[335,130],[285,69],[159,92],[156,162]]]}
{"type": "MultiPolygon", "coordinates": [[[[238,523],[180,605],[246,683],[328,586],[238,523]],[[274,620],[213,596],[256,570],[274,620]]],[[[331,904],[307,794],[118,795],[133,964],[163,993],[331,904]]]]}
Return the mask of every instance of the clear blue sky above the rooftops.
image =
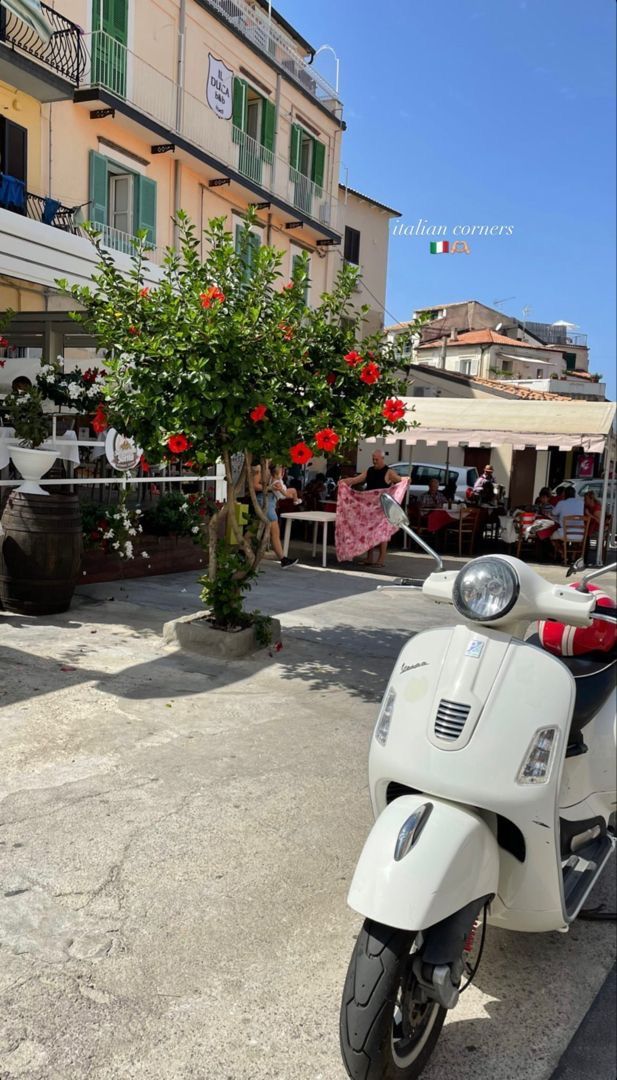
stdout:
{"type": "MultiPolygon", "coordinates": [[[[277,6],[277,4],[274,4],[277,6]]],[[[343,178],[402,220],[511,225],[430,256],[390,237],[386,322],[478,299],[589,335],[615,396],[614,0],[279,0],[340,58],[343,178]]],[[[334,81],[332,54],[316,62],[334,81]]]]}

